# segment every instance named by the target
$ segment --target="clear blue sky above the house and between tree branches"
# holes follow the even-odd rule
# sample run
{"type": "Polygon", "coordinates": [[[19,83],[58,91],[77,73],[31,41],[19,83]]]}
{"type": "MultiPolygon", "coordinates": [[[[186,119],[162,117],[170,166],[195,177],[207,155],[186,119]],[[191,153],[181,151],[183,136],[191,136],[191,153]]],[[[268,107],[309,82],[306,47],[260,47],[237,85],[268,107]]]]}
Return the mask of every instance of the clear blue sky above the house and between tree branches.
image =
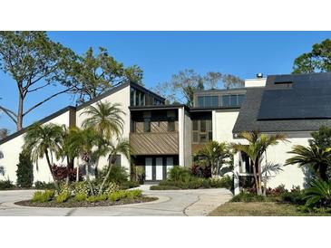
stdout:
{"type": "MultiPolygon", "coordinates": [[[[144,72],[147,88],[157,82],[169,81],[183,69],[201,74],[222,72],[243,79],[264,75],[290,73],[293,61],[314,43],[331,38],[331,32],[50,32],[52,40],[63,43],[82,54],[88,47],[102,46],[124,65],[138,64],[144,72]]],[[[28,108],[42,95],[54,89],[31,95],[28,108]]],[[[0,104],[17,110],[15,82],[0,72],[0,104]]],[[[73,100],[63,95],[45,103],[24,118],[24,126],[41,119],[73,100]]],[[[15,131],[15,125],[1,114],[0,128],[15,131]]]]}

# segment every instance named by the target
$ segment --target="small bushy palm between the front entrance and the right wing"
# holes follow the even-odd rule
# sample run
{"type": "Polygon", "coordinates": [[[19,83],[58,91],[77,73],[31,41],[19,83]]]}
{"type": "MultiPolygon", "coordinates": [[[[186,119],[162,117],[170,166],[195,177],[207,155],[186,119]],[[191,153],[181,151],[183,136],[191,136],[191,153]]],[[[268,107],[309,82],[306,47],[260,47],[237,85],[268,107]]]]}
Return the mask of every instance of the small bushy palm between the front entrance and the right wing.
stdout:
{"type": "Polygon", "coordinates": [[[200,162],[209,165],[212,175],[218,176],[219,169],[228,162],[231,153],[226,143],[210,141],[197,152],[196,156],[202,157],[200,162]]]}

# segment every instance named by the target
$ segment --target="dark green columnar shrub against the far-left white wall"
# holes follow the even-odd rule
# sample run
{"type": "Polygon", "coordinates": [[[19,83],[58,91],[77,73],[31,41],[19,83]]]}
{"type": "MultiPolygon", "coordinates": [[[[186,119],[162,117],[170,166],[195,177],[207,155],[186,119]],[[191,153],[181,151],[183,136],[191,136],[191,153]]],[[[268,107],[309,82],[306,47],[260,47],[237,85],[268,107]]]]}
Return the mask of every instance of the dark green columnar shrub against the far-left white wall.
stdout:
{"type": "Polygon", "coordinates": [[[31,187],[34,184],[34,165],[28,152],[21,152],[16,170],[16,185],[31,187]]]}

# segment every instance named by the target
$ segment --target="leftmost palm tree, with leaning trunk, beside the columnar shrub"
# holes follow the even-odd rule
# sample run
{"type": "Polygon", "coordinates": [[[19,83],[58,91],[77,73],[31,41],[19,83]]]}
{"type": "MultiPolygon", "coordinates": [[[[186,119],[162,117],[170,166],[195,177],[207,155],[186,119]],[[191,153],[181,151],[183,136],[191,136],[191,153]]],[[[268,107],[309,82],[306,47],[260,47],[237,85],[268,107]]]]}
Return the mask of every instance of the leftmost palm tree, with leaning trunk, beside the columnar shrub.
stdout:
{"type": "Polygon", "coordinates": [[[62,139],[62,127],[52,123],[45,125],[38,122],[34,123],[24,135],[23,149],[31,153],[31,158],[36,163],[37,169],[39,158],[46,157],[56,189],[59,189],[59,186],[54,176],[51,159],[53,160],[53,154],[59,153],[62,139]]]}

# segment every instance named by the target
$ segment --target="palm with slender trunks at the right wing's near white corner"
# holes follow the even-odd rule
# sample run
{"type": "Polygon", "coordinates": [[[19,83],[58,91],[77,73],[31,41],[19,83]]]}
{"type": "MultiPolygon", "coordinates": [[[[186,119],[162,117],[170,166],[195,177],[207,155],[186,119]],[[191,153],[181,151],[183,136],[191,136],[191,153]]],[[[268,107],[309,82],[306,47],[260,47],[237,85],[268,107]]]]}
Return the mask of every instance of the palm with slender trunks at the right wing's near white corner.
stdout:
{"type": "Polygon", "coordinates": [[[286,136],[283,134],[276,134],[267,136],[266,134],[260,134],[259,131],[242,132],[239,134],[239,138],[245,138],[248,140],[248,145],[231,143],[231,147],[235,151],[244,152],[252,161],[253,175],[255,186],[257,188],[258,196],[262,195],[262,169],[261,159],[263,154],[267,151],[269,146],[275,146],[279,141],[287,141],[286,136]]]}

